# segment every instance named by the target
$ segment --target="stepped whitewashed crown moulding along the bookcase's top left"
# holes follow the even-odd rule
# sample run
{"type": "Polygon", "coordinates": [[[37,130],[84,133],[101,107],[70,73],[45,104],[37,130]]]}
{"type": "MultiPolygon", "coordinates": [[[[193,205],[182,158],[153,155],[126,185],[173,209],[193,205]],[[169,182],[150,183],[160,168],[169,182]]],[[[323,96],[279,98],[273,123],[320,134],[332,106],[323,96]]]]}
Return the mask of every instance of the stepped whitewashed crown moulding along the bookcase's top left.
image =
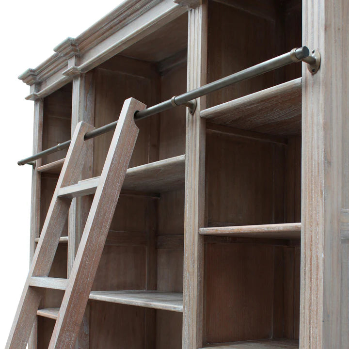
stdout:
{"type": "MultiPolygon", "coordinates": [[[[79,56],[79,65],[74,66],[73,70],[69,70],[68,56],[56,52],[35,69],[21,74],[19,79],[23,82],[28,85],[37,83],[39,86],[26,98],[35,100],[51,94],[71,81],[74,74],[90,71],[186,11],[185,6],[179,6],[172,0],[123,2],[77,38],[69,38],[75,42],[74,53],[79,56]]],[[[60,51],[61,46],[58,45],[55,50],[60,51]]]]}

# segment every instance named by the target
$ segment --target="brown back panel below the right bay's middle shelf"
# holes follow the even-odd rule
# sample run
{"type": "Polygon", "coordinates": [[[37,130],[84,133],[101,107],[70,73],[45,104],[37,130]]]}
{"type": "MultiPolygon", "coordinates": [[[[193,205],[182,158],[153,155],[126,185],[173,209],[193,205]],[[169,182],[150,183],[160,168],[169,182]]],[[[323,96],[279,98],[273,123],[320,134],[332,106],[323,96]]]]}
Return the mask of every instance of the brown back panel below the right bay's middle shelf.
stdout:
{"type": "MultiPolygon", "coordinates": [[[[253,243],[205,244],[207,343],[267,339],[284,321],[285,247],[253,243]],[[274,309],[278,308],[279,312],[274,309]]],[[[276,334],[276,333],[275,333],[276,334]]]]}

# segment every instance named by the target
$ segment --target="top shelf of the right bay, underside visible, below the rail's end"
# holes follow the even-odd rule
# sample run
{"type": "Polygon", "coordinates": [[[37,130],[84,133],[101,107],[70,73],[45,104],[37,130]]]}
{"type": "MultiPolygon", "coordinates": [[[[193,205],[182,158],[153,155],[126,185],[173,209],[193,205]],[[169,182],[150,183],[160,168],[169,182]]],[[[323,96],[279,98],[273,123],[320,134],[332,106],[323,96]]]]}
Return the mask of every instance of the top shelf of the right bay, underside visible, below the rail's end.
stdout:
{"type": "Polygon", "coordinates": [[[301,134],[301,78],[205,109],[200,116],[214,124],[254,132],[301,134]]]}

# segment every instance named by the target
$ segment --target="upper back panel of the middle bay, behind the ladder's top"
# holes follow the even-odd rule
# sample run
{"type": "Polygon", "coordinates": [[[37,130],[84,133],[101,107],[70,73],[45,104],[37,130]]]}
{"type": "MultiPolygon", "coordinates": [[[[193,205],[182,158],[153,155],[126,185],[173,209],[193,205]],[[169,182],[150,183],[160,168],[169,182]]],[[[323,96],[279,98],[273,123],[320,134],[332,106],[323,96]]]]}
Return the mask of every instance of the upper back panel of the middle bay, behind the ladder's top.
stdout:
{"type": "MultiPolygon", "coordinates": [[[[128,61],[119,63],[120,66],[117,71],[95,69],[95,127],[101,127],[117,120],[118,114],[116,111],[121,110],[124,100],[130,95],[142,100],[147,105],[154,105],[159,102],[157,97],[159,79],[154,75],[151,67],[148,67],[147,76],[140,77],[139,69],[131,69],[128,61]],[[125,67],[125,65],[127,66],[125,67]],[[126,73],[122,72],[124,68],[126,73]],[[129,70],[133,70],[135,73],[131,75],[129,70]]],[[[153,132],[155,134],[158,133],[158,116],[153,115],[136,122],[136,124],[140,131],[129,167],[136,167],[159,159],[158,157],[151,158],[154,148],[157,149],[158,137],[150,138],[152,128],[154,128],[153,132]]],[[[112,132],[94,138],[93,176],[101,174],[111,138],[112,132]]]]}

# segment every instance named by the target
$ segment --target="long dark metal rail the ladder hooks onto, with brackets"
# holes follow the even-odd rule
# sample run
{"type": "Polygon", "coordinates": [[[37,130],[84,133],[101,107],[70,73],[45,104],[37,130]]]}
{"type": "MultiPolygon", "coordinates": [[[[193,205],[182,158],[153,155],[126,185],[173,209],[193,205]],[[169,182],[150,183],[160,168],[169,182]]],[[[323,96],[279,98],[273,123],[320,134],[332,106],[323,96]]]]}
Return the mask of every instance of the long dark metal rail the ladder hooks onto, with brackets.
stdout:
{"type": "MultiPolygon", "coordinates": [[[[313,53],[314,52],[315,51],[313,51],[313,53]]],[[[186,105],[188,108],[190,108],[190,111],[193,112],[195,111],[195,108],[196,108],[195,99],[198,97],[220,90],[223,87],[227,87],[234,83],[237,83],[246,79],[251,79],[255,76],[267,73],[271,70],[281,68],[282,66],[285,66],[287,64],[297,63],[301,61],[304,61],[310,64],[311,66],[314,66],[316,64],[317,66],[319,65],[319,57],[315,57],[314,55],[309,55],[309,49],[306,46],[303,46],[301,48],[293,48],[290,52],[284,53],[281,56],[277,56],[268,61],[253,65],[252,67],[249,67],[237,73],[231,74],[225,78],[210,82],[204,86],[188,91],[182,95],[174,96],[171,99],[168,99],[164,102],[156,104],[152,107],[146,108],[143,111],[136,111],[134,118],[135,120],[144,119],[148,116],[157,114],[161,111],[169,110],[179,105],[186,105]]],[[[316,71],[312,70],[312,72],[315,73],[316,71]]],[[[111,124],[108,124],[108,125],[96,128],[93,131],[87,132],[84,136],[84,139],[88,140],[96,136],[99,136],[101,134],[104,134],[108,131],[111,131],[116,127],[116,124],[117,124],[117,121],[114,121],[111,124]]],[[[44,155],[52,154],[64,148],[68,148],[70,145],[70,142],[71,141],[69,140],[63,143],[59,143],[56,146],[53,146],[40,153],[32,155],[29,158],[19,160],[17,163],[18,165],[25,165],[28,163],[31,165],[34,165],[35,163],[32,161],[36,159],[40,159],[44,155]]]]}

